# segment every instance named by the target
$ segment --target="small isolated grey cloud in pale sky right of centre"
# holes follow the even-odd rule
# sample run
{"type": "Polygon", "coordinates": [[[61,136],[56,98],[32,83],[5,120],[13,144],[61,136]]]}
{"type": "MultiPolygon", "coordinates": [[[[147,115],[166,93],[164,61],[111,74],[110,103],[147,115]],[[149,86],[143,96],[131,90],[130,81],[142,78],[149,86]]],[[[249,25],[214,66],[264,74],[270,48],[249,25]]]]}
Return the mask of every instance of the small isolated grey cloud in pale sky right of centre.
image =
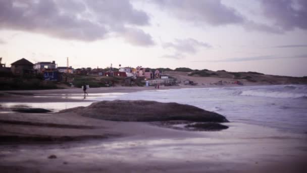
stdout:
{"type": "Polygon", "coordinates": [[[166,42],[162,45],[163,48],[173,48],[177,52],[183,52],[183,53],[191,53],[195,54],[197,48],[211,48],[212,46],[201,41],[197,41],[193,38],[187,38],[187,39],[175,39],[175,43],[173,42],[166,42]]]}

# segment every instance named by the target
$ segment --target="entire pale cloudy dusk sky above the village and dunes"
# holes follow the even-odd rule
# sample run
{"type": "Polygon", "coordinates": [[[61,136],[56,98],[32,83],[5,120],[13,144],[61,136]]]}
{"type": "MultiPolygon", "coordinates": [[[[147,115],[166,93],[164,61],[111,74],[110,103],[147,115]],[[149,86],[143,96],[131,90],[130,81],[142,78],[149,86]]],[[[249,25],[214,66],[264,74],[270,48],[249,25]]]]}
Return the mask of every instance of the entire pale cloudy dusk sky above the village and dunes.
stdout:
{"type": "Polygon", "coordinates": [[[307,76],[305,0],[0,0],[0,57],[307,76]]]}

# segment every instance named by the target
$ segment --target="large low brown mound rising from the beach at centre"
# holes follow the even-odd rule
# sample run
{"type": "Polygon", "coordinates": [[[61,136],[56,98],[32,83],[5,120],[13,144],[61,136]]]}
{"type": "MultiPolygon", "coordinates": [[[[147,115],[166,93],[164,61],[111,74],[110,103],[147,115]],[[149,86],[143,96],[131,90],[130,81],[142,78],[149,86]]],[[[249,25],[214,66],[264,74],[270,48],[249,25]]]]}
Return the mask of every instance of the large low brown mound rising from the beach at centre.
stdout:
{"type": "Polygon", "coordinates": [[[224,116],[195,106],[156,101],[115,100],[95,102],[87,107],[65,109],[82,116],[112,121],[168,121],[229,122],[224,116]]]}

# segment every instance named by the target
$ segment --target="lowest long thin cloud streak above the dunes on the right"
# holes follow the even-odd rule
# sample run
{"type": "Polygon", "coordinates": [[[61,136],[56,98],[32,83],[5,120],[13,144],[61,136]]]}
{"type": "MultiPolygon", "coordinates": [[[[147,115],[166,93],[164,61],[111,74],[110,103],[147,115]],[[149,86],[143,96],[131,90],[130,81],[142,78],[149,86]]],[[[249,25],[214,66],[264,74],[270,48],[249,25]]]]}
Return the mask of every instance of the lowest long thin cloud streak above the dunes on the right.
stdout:
{"type": "Polygon", "coordinates": [[[208,61],[192,61],[192,62],[240,62],[240,61],[259,61],[259,60],[272,60],[272,59],[293,59],[293,58],[307,58],[307,54],[295,55],[295,56],[258,56],[258,57],[241,57],[241,58],[227,58],[224,60],[208,60],[208,61]]]}

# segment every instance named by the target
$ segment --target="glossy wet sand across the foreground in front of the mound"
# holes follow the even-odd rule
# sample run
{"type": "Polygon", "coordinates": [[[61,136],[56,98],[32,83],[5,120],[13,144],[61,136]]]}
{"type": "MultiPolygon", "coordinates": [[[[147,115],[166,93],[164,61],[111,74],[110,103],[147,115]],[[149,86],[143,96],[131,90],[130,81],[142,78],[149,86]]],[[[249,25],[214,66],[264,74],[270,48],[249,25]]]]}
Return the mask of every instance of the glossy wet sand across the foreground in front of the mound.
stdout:
{"type": "MultiPolygon", "coordinates": [[[[304,172],[306,135],[230,122],[220,132],[191,132],[144,122],[104,121],[72,114],[2,114],[1,119],[64,126],[14,125],[7,135],[85,137],[75,142],[2,143],[4,172],[304,172]],[[16,116],[16,117],[14,117],[16,116]],[[6,117],[6,118],[4,118],[6,117]],[[17,118],[18,117],[18,118],[17,118]],[[44,117],[44,118],[41,118],[44,117]],[[66,127],[65,124],[75,125],[66,127]],[[78,128],[78,125],[83,125],[78,128]],[[93,128],[88,128],[92,126],[93,128]],[[50,159],[50,155],[57,158],[50,159]]],[[[3,172],[2,171],[2,172],[3,172]]]]}

